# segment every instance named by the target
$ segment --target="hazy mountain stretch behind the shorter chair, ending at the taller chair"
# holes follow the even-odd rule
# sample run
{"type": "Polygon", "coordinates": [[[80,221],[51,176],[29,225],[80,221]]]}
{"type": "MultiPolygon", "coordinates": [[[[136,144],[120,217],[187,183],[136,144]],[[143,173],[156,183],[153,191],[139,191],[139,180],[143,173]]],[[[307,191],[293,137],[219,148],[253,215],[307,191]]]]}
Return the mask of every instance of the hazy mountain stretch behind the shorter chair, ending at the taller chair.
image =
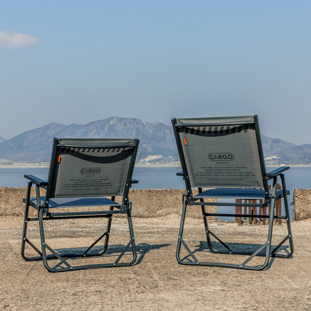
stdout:
{"type": "Polygon", "coordinates": [[[140,140],[137,162],[144,162],[146,158],[148,162],[179,161],[174,133],[170,126],[160,122],[148,123],[137,118],[119,117],[97,120],[85,125],[49,123],[1,143],[0,158],[11,162],[48,162],[51,156],[53,137],[134,137],[140,140]],[[152,157],[155,155],[157,157],[152,157]]]}

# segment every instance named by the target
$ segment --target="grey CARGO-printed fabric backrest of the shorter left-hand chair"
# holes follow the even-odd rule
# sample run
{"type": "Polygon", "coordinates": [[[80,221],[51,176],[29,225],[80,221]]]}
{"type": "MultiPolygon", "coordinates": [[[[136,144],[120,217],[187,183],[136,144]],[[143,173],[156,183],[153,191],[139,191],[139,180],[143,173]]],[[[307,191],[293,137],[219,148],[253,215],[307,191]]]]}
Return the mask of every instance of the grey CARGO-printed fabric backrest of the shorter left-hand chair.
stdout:
{"type": "Polygon", "coordinates": [[[138,139],[54,138],[46,201],[128,196],[138,139]]]}

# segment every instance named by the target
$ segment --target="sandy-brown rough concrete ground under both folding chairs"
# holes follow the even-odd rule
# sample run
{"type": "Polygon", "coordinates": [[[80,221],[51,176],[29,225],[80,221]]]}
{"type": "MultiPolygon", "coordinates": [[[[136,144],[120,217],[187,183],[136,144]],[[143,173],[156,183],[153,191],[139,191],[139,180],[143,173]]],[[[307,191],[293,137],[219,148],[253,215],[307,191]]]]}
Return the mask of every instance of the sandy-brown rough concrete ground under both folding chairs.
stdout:
{"type": "MultiPolygon", "coordinates": [[[[46,241],[56,248],[88,246],[100,236],[101,221],[53,220],[46,224],[46,241]],[[73,237],[80,244],[74,244],[73,237]]],[[[293,257],[272,258],[263,271],[178,264],[179,217],[170,215],[134,220],[138,252],[134,265],[60,273],[48,272],[42,262],[21,258],[22,222],[21,217],[0,217],[1,310],[311,310],[311,220],[292,222],[293,257]]],[[[116,219],[108,258],[94,260],[114,261],[118,246],[128,241],[127,229],[124,220],[116,219]]],[[[259,244],[267,234],[264,225],[214,222],[210,229],[237,243],[259,244]]],[[[281,241],[285,229],[285,225],[274,226],[272,244],[281,241]]],[[[29,237],[36,244],[37,231],[36,224],[29,225],[29,237]]],[[[206,251],[204,228],[198,220],[187,220],[184,238],[193,250],[203,250],[196,253],[199,260],[244,261],[243,256],[206,251]]],[[[254,264],[262,261],[256,258],[254,264]]]]}

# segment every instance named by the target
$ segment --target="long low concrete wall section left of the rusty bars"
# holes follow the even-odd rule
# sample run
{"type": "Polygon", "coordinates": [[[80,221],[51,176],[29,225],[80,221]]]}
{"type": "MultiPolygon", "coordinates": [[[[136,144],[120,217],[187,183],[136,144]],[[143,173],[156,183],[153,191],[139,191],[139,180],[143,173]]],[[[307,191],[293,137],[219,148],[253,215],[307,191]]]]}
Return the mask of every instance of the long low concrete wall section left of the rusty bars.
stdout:
{"type": "MultiPolygon", "coordinates": [[[[181,215],[182,194],[184,190],[176,189],[131,189],[129,200],[132,201],[133,217],[160,217],[169,214],[181,215]]],[[[41,190],[41,195],[45,191],[41,190]]],[[[194,193],[197,194],[197,193],[194,193]]],[[[0,216],[23,216],[25,204],[22,203],[26,196],[26,188],[0,187],[0,216]]],[[[32,187],[31,196],[35,196],[35,188],[32,187]]],[[[121,203],[117,197],[116,201],[121,203]]],[[[210,202],[216,202],[211,199],[210,202]]],[[[31,217],[36,215],[31,208],[31,217]]],[[[207,211],[216,212],[216,206],[209,207],[207,211]]],[[[189,207],[187,217],[202,218],[201,207],[189,207]]],[[[216,219],[216,217],[210,217],[216,219]]]]}

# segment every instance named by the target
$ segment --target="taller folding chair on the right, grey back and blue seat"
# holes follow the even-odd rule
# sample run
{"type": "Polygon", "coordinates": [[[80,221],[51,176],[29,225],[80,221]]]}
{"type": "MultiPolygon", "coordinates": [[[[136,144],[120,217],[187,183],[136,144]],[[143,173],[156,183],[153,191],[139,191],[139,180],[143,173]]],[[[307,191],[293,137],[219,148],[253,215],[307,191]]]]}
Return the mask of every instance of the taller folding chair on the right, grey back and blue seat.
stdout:
{"type": "Polygon", "coordinates": [[[289,167],[283,166],[266,173],[258,116],[174,118],[172,124],[183,169],[177,175],[183,176],[186,184],[176,250],[178,262],[186,265],[262,270],[267,267],[270,257],[289,258],[294,248],[287,202],[289,191],[286,190],[283,174],[289,167]],[[278,176],[281,178],[282,190],[276,188],[278,176]],[[272,190],[268,188],[268,180],[272,180],[272,190]],[[192,188],[198,188],[199,194],[194,196],[192,188]],[[208,189],[202,190],[202,188],[208,189]],[[207,198],[216,198],[217,203],[205,202],[204,199],[207,198]],[[275,216],[276,201],[280,198],[284,200],[285,215],[275,216]],[[238,202],[240,203],[232,202],[231,199],[239,199],[238,202]],[[249,203],[249,200],[254,201],[249,203]],[[183,239],[187,207],[195,205],[202,208],[207,245],[210,252],[247,255],[246,260],[241,264],[199,262],[194,255],[195,252],[190,250],[183,239]],[[217,205],[217,213],[206,212],[205,206],[211,205],[217,205]],[[271,207],[271,212],[269,215],[253,215],[251,213],[245,215],[239,212],[219,213],[219,210],[224,206],[255,207],[255,210],[257,207],[271,207]],[[242,250],[231,249],[230,243],[226,244],[209,229],[207,216],[269,218],[267,241],[253,251],[247,250],[246,248],[249,248],[250,245],[245,244],[242,244],[242,250]],[[272,226],[275,218],[286,220],[288,234],[271,250],[272,226]],[[217,242],[212,242],[211,237],[214,237],[217,242]],[[280,254],[280,248],[287,240],[290,251],[280,254]],[[221,248],[223,249],[216,249],[213,244],[222,245],[221,248]],[[182,259],[180,258],[181,245],[188,252],[188,255],[182,259]],[[262,265],[247,265],[255,256],[264,256],[265,262],[262,265]]]}

